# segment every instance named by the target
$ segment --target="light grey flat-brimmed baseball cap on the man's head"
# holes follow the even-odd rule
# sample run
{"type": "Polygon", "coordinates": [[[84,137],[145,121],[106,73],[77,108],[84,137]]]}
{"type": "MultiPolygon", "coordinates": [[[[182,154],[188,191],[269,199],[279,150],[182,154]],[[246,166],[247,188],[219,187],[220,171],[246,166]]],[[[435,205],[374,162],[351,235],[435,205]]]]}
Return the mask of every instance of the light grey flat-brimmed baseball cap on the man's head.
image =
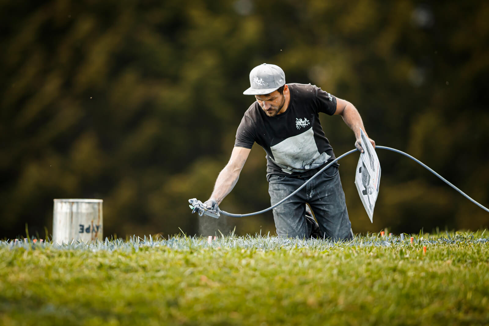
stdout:
{"type": "Polygon", "coordinates": [[[257,65],[249,73],[249,84],[244,95],[269,94],[285,85],[285,73],[278,65],[257,65]]]}

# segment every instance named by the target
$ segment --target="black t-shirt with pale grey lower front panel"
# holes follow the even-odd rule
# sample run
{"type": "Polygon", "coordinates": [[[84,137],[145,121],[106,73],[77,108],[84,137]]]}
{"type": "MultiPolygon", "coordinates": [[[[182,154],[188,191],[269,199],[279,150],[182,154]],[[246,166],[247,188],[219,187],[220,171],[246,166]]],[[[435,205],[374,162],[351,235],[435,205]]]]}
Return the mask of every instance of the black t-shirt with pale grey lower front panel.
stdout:
{"type": "Polygon", "coordinates": [[[304,173],[335,158],[319,112],[333,115],[336,98],[315,85],[287,85],[290,101],[284,113],[269,117],[255,101],[236,131],[234,146],[251,149],[256,142],[267,152],[267,179],[304,173]]]}

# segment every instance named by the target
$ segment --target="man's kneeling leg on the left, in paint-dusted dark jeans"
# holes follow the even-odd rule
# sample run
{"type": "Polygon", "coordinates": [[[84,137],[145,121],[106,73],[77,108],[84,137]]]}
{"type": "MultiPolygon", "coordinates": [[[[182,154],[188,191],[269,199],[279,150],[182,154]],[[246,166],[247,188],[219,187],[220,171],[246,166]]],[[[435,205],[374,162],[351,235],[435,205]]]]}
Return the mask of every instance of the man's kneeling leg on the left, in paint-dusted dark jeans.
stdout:
{"type": "MultiPolygon", "coordinates": [[[[304,180],[272,175],[268,183],[270,203],[275,205],[289,196],[304,183],[304,180]]],[[[305,191],[300,191],[273,209],[273,219],[279,237],[309,238],[311,223],[305,217],[305,191]]]]}

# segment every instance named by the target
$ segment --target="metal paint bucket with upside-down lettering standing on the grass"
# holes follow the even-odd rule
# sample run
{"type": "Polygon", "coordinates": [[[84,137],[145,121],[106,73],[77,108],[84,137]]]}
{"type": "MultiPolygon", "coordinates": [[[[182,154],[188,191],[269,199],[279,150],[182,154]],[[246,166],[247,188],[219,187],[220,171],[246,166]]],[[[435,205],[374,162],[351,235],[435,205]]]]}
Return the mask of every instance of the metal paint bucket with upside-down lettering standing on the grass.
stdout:
{"type": "Polygon", "coordinates": [[[53,199],[53,241],[103,240],[102,199],[53,199]]]}

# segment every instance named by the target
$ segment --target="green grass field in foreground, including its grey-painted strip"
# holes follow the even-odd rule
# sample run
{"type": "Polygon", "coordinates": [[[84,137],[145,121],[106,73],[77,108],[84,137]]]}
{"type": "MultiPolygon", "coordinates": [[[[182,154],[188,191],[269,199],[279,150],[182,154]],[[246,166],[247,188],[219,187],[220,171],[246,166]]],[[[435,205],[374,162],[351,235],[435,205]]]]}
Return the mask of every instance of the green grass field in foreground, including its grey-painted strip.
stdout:
{"type": "Polygon", "coordinates": [[[488,236],[1,241],[0,325],[488,325],[488,236]]]}

